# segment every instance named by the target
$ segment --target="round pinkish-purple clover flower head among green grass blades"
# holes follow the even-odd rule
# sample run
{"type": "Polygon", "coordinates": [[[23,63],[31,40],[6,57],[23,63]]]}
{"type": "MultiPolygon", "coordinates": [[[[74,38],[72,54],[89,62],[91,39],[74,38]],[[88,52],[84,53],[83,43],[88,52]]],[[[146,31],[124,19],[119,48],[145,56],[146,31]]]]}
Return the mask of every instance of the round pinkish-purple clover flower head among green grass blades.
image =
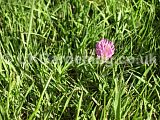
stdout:
{"type": "Polygon", "coordinates": [[[96,54],[99,58],[109,59],[114,54],[114,44],[107,39],[101,39],[96,44],[96,54]]]}

